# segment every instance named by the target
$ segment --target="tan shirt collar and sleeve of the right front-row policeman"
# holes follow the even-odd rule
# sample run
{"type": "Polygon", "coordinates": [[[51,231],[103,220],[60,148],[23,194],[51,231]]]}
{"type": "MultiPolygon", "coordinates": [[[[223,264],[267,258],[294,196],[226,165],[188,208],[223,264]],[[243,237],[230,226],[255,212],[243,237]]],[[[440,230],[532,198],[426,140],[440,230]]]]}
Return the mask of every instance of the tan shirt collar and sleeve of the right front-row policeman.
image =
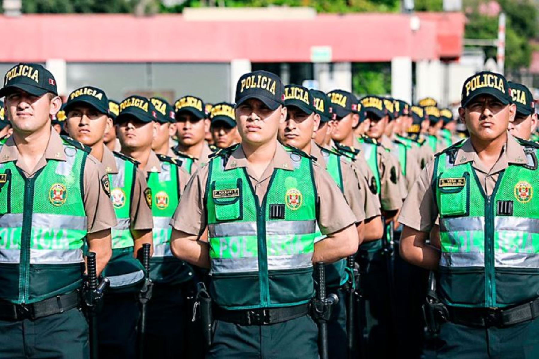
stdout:
{"type": "MultiPolygon", "coordinates": [[[[526,161],[524,147],[522,147],[515,138],[507,133],[507,144],[503,148],[500,158],[492,168],[486,168],[469,139],[457,151],[455,157],[455,166],[472,163],[472,167],[477,175],[481,187],[487,195],[490,195],[496,185],[496,180],[501,171],[505,170],[509,163],[522,164],[526,161]]],[[[411,227],[422,232],[429,232],[438,218],[438,207],[434,200],[432,191],[432,176],[434,172],[434,161],[421,171],[416,180],[399,216],[399,222],[405,226],[411,227]]],[[[473,181],[473,177],[471,177],[473,181]]]]}

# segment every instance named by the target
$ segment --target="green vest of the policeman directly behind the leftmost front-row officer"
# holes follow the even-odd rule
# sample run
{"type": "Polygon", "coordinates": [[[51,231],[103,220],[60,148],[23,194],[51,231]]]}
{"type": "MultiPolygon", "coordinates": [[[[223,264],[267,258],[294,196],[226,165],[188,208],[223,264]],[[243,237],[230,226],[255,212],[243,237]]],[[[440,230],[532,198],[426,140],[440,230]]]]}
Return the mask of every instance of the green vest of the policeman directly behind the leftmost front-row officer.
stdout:
{"type": "Polygon", "coordinates": [[[112,257],[103,276],[110,280],[110,291],[139,290],[144,279],[142,264],[133,257],[134,240],[131,234],[130,214],[136,174],[136,163],[121,153],[113,152],[118,173],[109,173],[110,199],[118,223],[111,230],[112,257]]]}

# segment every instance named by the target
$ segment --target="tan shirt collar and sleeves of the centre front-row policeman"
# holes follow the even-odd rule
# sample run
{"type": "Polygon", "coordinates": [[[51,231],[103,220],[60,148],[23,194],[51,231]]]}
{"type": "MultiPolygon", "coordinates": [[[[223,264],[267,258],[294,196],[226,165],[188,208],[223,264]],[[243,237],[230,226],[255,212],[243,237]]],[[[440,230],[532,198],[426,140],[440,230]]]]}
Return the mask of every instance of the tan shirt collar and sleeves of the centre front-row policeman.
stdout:
{"type": "MultiPolygon", "coordinates": [[[[267,192],[269,179],[272,177],[275,168],[292,171],[294,168],[288,152],[277,144],[277,151],[272,161],[260,178],[247,166],[247,159],[241,145],[232,152],[226,163],[225,171],[231,168],[247,167],[247,174],[251,181],[252,188],[260,202],[267,192]]],[[[335,181],[330,177],[325,168],[313,163],[314,182],[319,196],[319,210],[317,222],[323,235],[328,235],[340,231],[356,222],[356,216],[348,207],[346,200],[341,194],[335,181]]],[[[179,206],[170,221],[175,229],[190,235],[200,235],[206,228],[206,203],[204,192],[206,181],[208,180],[209,166],[202,166],[191,177],[188,186],[182,196],[179,206]]]]}

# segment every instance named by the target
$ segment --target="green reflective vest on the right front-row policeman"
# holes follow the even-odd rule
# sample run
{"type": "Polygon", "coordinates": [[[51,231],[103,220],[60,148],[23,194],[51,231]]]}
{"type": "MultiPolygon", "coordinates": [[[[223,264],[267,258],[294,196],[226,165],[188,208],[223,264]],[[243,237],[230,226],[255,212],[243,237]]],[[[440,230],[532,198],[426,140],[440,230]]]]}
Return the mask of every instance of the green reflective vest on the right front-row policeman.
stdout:
{"type": "Polygon", "coordinates": [[[539,294],[539,146],[522,144],[526,160],[510,163],[490,196],[471,162],[455,163],[462,143],[436,156],[439,291],[448,305],[504,307],[539,294]]]}

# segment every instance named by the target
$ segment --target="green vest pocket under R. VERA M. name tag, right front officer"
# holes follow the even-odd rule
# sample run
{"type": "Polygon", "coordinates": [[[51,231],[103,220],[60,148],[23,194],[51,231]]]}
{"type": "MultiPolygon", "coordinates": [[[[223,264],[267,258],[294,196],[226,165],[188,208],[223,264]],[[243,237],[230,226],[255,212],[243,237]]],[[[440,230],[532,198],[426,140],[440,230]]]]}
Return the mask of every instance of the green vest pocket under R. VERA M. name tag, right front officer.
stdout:
{"type": "Polygon", "coordinates": [[[438,208],[441,216],[467,216],[469,214],[469,173],[461,178],[438,178],[438,208]],[[464,179],[464,185],[452,185],[464,179]]]}

